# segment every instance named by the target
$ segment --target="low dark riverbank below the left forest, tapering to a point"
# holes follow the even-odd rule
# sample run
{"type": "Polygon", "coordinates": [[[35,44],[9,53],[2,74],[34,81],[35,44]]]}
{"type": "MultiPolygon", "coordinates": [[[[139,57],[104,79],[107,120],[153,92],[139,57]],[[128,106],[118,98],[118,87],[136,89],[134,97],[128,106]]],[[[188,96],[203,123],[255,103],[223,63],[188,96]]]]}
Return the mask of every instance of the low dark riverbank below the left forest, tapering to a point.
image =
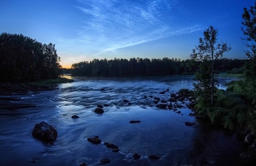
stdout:
{"type": "Polygon", "coordinates": [[[0,92],[18,92],[18,91],[52,91],[56,89],[56,85],[59,83],[71,83],[72,79],[56,78],[39,80],[36,82],[25,83],[0,83],[0,92]]]}

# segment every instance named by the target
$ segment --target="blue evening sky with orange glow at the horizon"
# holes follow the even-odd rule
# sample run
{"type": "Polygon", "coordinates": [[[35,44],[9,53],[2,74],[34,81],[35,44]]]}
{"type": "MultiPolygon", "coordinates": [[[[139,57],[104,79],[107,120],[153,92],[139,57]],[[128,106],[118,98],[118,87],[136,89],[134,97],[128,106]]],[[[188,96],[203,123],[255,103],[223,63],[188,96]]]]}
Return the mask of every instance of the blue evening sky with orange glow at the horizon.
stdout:
{"type": "Polygon", "coordinates": [[[210,25],[245,58],[243,8],[253,0],[1,0],[0,33],[55,44],[64,68],[114,58],[188,59],[210,25]]]}

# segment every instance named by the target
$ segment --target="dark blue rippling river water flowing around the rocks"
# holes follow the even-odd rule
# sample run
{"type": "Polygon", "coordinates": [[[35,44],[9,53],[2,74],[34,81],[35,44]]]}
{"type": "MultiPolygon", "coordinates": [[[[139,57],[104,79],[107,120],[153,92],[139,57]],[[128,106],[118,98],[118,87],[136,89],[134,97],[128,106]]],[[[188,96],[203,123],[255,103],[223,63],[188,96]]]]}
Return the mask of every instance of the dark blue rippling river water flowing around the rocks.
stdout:
{"type": "MultiPolygon", "coordinates": [[[[191,110],[150,107],[156,96],[168,99],[180,88],[192,89],[192,78],[88,79],[59,84],[59,90],[0,95],[0,165],[239,165],[243,150],[228,131],[211,129],[189,117],[191,110]],[[104,88],[105,91],[101,91],[104,88]],[[164,95],[159,92],[170,89],[164,95]],[[123,103],[129,100],[132,105],[123,103]],[[104,114],[93,112],[109,104],[104,114]],[[77,114],[80,118],[72,119],[77,114]],[[140,124],[129,124],[139,120],[140,124]],[[35,124],[46,121],[58,131],[54,144],[32,137],[35,124]],[[185,121],[195,126],[185,126],[185,121]],[[98,136],[102,143],[86,138],[98,136]],[[114,153],[103,143],[117,145],[114,153]],[[142,156],[133,159],[133,154],[142,156]],[[155,154],[159,160],[148,159],[155,154]],[[33,163],[32,161],[35,161],[33,163]]],[[[220,88],[225,86],[220,85],[220,88]]]]}

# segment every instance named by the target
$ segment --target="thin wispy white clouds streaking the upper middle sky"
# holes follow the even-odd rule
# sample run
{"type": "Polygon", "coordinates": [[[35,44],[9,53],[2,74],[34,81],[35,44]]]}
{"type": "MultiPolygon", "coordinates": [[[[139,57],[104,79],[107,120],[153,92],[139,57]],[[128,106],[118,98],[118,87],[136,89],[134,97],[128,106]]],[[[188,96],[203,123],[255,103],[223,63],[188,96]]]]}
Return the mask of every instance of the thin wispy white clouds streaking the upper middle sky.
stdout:
{"type": "Polygon", "coordinates": [[[94,55],[111,52],[164,39],[200,31],[204,27],[181,25],[177,28],[178,12],[184,12],[175,1],[150,0],[78,0],[76,6],[83,14],[84,26],[75,39],[59,39],[61,43],[97,47],[94,55]]]}

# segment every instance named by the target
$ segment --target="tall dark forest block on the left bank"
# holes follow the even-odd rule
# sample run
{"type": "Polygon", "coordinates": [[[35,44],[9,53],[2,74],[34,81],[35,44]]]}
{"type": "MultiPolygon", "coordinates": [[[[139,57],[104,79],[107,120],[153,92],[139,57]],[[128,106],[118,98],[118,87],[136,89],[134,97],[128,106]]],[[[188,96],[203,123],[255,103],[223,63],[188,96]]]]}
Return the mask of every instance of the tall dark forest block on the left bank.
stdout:
{"type": "Polygon", "coordinates": [[[63,74],[59,62],[55,44],[42,44],[22,34],[0,35],[1,82],[57,78],[63,74]]]}

